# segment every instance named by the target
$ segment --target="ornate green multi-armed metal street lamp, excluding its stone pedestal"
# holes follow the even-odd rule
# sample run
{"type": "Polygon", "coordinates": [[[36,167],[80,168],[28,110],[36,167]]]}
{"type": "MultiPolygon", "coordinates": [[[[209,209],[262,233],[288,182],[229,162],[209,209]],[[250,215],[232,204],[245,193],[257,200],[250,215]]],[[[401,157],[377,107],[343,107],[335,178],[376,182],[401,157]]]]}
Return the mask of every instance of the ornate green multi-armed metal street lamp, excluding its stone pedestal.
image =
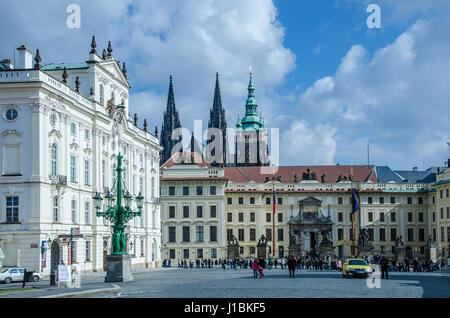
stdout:
{"type": "MultiPolygon", "coordinates": [[[[96,193],[93,197],[95,209],[97,210],[97,216],[102,216],[110,220],[114,226],[114,232],[112,237],[112,248],[111,254],[127,254],[126,251],[126,238],[125,238],[125,224],[136,216],[141,216],[141,210],[144,203],[144,197],[139,192],[135,197],[136,204],[139,212],[134,212],[131,210],[131,194],[122,190],[122,158],[120,154],[117,156],[117,191],[115,195],[111,192],[105,194],[106,205],[109,206],[106,211],[100,212],[101,204],[103,198],[100,193],[96,193]],[[124,193],[124,194],[123,194],[124,193]],[[125,201],[125,205],[122,206],[122,199],[125,201]]],[[[125,188],[125,186],[124,186],[125,188]]]]}

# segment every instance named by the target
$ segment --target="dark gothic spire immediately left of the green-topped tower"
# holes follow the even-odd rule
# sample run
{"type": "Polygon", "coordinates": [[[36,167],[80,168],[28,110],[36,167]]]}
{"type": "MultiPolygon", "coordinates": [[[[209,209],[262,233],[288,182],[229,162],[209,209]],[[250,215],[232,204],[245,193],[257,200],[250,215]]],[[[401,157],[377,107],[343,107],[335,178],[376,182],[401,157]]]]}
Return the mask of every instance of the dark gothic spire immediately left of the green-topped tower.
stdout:
{"type": "MultiPolygon", "coordinates": [[[[222,131],[222,149],[220,151],[223,152],[222,160],[219,160],[219,162],[214,161],[212,163],[213,166],[218,166],[223,164],[226,164],[226,158],[227,158],[227,121],[225,119],[225,109],[222,107],[222,97],[220,95],[220,84],[219,84],[219,73],[216,73],[216,88],[214,91],[214,100],[213,100],[213,107],[210,110],[209,115],[209,122],[208,122],[208,128],[217,128],[222,131]]],[[[210,143],[212,140],[214,140],[214,136],[208,136],[207,143],[210,143]]],[[[212,150],[211,155],[215,155],[216,149],[212,150]]]]}

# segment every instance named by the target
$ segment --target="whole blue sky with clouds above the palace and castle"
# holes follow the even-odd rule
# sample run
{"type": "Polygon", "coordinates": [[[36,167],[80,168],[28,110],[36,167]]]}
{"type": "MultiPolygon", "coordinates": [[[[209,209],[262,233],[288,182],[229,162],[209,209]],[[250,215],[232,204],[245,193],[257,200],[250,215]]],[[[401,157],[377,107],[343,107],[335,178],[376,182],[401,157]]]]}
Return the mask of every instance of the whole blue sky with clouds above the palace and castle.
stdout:
{"type": "Polygon", "coordinates": [[[248,67],[258,108],[280,129],[281,164],[442,165],[450,138],[447,0],[5,0],[0,58],[86,60],[113,44],[127,63],[131,112],[161,127],[169,75],[181,123],[207,125],[219,72],[228,126],[244,113],[248,67]],[[66,26],[69,4],[81,28],[66,26]],[[368,29],[369,3],[381,29],[368,29]],[[101,14],[99,14],[101,12],[101,14]]]}

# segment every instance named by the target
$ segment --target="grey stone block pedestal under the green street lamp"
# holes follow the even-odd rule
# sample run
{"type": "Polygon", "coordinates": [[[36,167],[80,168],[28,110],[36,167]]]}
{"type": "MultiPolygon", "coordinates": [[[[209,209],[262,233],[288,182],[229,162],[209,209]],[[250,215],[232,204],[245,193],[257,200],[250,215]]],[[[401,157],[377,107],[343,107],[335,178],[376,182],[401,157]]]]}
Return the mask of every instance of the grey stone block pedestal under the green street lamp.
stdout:
{"type": "Polygon", "coordinates": [[[130,255],[111,254],[106,256],[105,283],[121,283],[132,280],[130,255]]]}

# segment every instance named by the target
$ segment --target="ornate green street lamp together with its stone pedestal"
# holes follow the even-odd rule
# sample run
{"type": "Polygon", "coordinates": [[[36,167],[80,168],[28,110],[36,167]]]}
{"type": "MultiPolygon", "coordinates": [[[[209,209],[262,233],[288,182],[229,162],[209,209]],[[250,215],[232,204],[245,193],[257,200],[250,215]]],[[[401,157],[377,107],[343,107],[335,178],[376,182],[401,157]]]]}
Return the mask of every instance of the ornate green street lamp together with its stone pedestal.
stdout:
{"type": "Polygon", "coordinates": [[[144,197],[139,193],[135,197],[138,212],[131,210],[130,205],[133,197],[128,191],[125,192],[122,189],[122,159],[123,156],[119,152],[116,168],[116,193],[108,192],[105,195],[106,211],[100,211],[103,201],[100,193],[96,193],[93,197],[97,216],[105,217],[113,223],[112,253],[106,257],[107,274],[105,282],[123,282],[133,279],[131,276],[131,259],[126,251],[125,227],[129,220],[141,216],[144,203],[144,197]],[[125,205],[122,205],[122,200],[125,205]]]}

